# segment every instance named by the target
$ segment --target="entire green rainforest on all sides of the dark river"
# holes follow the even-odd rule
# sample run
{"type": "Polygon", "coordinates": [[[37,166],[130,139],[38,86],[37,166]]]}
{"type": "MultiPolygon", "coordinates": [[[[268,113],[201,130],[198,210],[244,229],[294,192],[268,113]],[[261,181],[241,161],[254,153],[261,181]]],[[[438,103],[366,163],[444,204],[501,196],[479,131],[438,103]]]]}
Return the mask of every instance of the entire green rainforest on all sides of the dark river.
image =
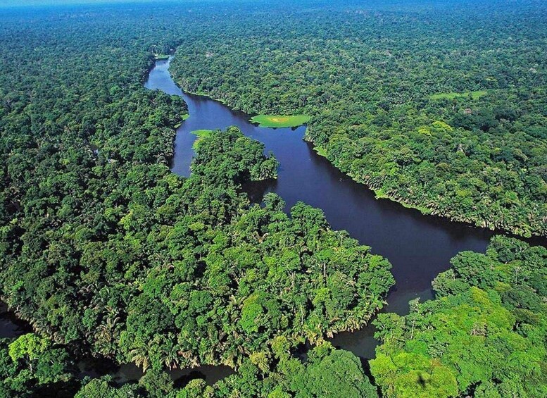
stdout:
{"type": "Polygon", "coordinates": [[[389,259],[321,209],[251,203],[242,186],[279,169],[260,142],[201,130],[189,177],[172,173],[189,109],[143,87],[175,54],[189,92],[309,117],[306,139],[379,197],[545,237],[544,15],[534,0],[2,10],[0,297],[32,330],[0,339],[0,397],[545,396],[545,247],[493,237],[446,264],[434,299],[388,313],[389,259]],[[375,359],[328,341],[371,322],[375,359]],[[87,374],[89,357],[144,374],[87,374]],[[169,373],[202,365],[234,373],[169,373]]]}

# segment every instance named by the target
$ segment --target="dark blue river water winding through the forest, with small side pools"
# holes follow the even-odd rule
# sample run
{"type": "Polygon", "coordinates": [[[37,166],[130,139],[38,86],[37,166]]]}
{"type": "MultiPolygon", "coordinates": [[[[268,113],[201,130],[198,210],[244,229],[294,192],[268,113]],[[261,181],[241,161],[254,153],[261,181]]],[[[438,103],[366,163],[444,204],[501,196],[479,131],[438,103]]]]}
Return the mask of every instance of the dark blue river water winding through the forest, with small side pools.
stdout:
{"type": "MultiPolygon", "coordinates": [[[[332,228],[347,230],[361,244],[372,247],[375,254],[385,256],[393,268],[395,287],[387,297],[388,305],[382,311],[408,313],[408,301],[432,297],[431,281],[449,268],[451,257],[458,251],[484,251],[493,232],[453,223],[443,218],[423,216],[419,211],[405,209],[386,199],[377,200],[364,185],[351,180],[334,168],[325,158],[315,154],[303,140],[306,127],[258,128],[249,122],[249,116],[232,111],[218,101],[186,94],[175,85],[169,73],[169,61],[157,61],[149,73],[145,87],[178,95],[186,101],[190,117],[177,129],[172,171],[187,176],[194,155],[191,134],[200,129],[224,129],[236,125],[247,137],[265,145],[280,163],[279,176],[274,182],[255,184],[249,190],[251,199],[260,200],[266,192],[275,192],[287,202],[287,209],[296,201],[318,207],[332,228]]],[[[535,243],[536,240],[534,240],[535,243]]],[[[545,240],[537,240],[545,244],[545,240]]],[[[0,303],[0,337],[15,337],[32,331],[30,325],[18,321],[13,313],[0,303]]],[[[374,357],[377,341],[372,325],[356,332],[342,332],[331,342],[347,349],[361,359],[374,357]]],[[[115,366],[93,359],[80,362],[80,376],[96,377],[110,373],[123,383],[138,380],[142,371],[129,363],[115,366]]],[[[192,378],[205,378],[209,384],[233,373],[226,366],[201,366],[196,369],[170,372],[177,385],[192,378]]]]}

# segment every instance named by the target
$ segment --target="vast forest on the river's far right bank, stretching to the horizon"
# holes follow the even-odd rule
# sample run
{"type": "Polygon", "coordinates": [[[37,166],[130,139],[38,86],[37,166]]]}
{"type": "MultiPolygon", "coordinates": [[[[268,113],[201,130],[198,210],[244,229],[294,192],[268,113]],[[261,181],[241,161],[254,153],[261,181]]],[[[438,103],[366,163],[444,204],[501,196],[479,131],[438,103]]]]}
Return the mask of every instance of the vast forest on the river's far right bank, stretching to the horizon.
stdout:
{"type": "Polygon", "coordinates": [[[246,113],[310,116],[317,151],[379,197],[547,235],[545,3],[384,3],[205,23],[172,73],[246,113]]]}

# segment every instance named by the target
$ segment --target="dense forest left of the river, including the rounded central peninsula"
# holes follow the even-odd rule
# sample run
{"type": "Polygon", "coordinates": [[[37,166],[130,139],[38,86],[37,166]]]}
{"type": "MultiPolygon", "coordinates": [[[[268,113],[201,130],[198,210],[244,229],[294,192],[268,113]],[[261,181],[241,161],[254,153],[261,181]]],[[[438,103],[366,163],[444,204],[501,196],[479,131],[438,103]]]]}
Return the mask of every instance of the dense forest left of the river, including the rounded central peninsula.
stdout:
{"type": "MultiPolygon", "coordinates": [[[[190,178],[170,173],[187,107],[142,76],[180,40],[138,8],[80,12],[3,18],[8,305],[55,344],[149,370],[127,394],[168,394],[171,368],[249,359],[268,372],[275,337],[295,347],[365,325],[393,285],[389,262],[318,209],[251,206],[241,184],[276,178],[278,163],[237,128],[201,138],[190,178]]],[[[44,383],[49,357],[31,361],[44,383]]],[[[118,388],[84,384],[82,396],[118,388]]]]}

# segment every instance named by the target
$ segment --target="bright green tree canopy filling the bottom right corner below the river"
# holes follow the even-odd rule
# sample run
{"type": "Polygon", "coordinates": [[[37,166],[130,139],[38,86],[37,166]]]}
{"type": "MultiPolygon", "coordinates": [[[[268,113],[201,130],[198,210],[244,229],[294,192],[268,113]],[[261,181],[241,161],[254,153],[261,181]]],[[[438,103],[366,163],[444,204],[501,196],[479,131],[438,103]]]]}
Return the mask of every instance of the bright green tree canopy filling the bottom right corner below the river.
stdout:
{"type": "Polygon", "coordinates": [[[547,249],[494,237],[433,282],[405,317],[380,314],[372,375],[386,397],[544,397],[547,249]]]}

